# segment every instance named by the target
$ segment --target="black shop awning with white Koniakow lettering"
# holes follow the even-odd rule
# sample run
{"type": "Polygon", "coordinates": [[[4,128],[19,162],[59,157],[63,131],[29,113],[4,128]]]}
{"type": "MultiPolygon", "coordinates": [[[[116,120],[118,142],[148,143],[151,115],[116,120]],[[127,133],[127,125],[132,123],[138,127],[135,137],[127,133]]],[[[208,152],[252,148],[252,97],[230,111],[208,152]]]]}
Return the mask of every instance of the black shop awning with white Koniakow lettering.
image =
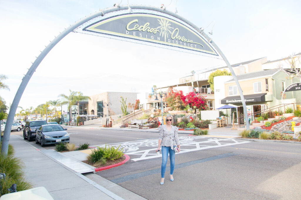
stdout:
{"type": "MultiPolygon", "coordinates": [[[[265,101],[266,93],[244,95],[246,103],[265,101]]],[[[229,96],[221,100],[221,104],[241,103],[240,96],[229,96]]]]}

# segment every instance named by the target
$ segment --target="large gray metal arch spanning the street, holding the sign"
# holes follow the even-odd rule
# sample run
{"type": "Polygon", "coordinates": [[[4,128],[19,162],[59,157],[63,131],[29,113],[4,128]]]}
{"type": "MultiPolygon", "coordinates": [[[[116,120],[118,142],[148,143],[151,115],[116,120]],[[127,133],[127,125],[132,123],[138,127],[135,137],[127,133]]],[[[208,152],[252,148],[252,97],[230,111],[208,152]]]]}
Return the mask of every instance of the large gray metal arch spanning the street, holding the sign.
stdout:
{"type": "MultiPolygon", "coordinates": [[[[229,70],[232,73],[232,76],[234,77],[234,80],[237,84],[239,93],[240,93],[240,97],[244,106],[244,114],[246,116],[246,125],[247,125],[247,129],[249,129],[249,121],[247,120],[248,115],[247,115],[247,108],[246,108],[246,103],[244,101],[244,96],[242,94],[239,82],[237,80],[237,77],[230,65],[230,63],[228,62],[228,60],[226,59],[225,55],[222,53],[222,51],[218,48],[218,46],[216,46],[216,44],[212,41],[212,38],[209,38],[204,32],[203,32],[203,28],[198,28],[196,25],[194,25],[193,23],[191,23],[190,21],[188,21],[187,19],[183,18],[182,16],[169,11],[169,10],[164,10],[162,8],[159,7],[153,7],[153,6],[145,6],[145,5],[131,5],[130,6],[132,9],[143,9],[143,10],[153,10],[153,11],[157,11],[157,12],[161,12],[161,13],[166,13],[168,15],[171,15],[185,23],[187,23],[188,25],[191,25],[191,27],[193,27],[194,29],[196,29],[197,31],[200,32],[200,34],[202,34],[206,40],[208,40],[213,46],[214,48],[216,48],[216,50],[219,52],[219,54],[222,56],[222,58],[224,59],[225,63],[227,64],[229,70]]],[[[40,53],[40,55],[36,58],[36,60],[33,62],[33,64],[31,65],[31,67],[29,68],[28,72],[26,73],[26,75],[23,77],[22,82],[17,90],[17,93],[14,97],[14,100],[11,104],[11,109],[9,110],[8,113],[8,118],[7,118],[7,124],[5,126],[5,130],[4,130],[4,134],[3,134],[3,140],[2,140],[2,148],[1,148],[1,154],[7,155],[8,153],[8,142],[9,142],[9,138],[10,138],[10,133],[11,133],[11,126],[14,120],[14,114],[17,111],[17,107],[18,104],[20,102],[20,99],[22,97],[22,94],[31,78],[31,76],[33,75],[33,73],[35,72],[36,68],[39,66],[39,64],[42,62],[42,60],[45,58],[45,56],[51,51],[51,49],[59,42],[61,41],[67,34],[69,34],[70,32],[72,32],[74,29],[76,29],[77,27],[79,27],[80,25],[84,24],[85,22],[88,22],[91,19],[94,19],[98,16],[104,16],[107,13],[111,13],[111,12],[115,12],[115,11],[119,11],[119,10],[127,10],[129,9],[128,5],[122,5],[119,7],[111,7],[111,8],[106,8],[104,10],[99,10],[98,12],[95,12],[89,16],[86,16],[83,19],[80,19],[79,21],[75,22],[74,24],[70,25],[68,28],[66,28],[62,33],[60,33],[57,37],[54,38],[54,40],[52,40],[48,46],[45,47],[45,49],[40,53]]]]}

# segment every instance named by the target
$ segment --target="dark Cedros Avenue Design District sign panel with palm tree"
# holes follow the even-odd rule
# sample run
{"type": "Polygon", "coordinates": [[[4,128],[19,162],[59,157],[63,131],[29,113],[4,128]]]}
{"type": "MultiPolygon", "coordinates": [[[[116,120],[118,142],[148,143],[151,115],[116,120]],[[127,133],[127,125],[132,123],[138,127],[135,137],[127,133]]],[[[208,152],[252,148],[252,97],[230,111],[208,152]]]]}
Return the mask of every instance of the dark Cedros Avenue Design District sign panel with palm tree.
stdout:
{"type": "Polygon", "coordinates": [[[216,51],[197,31],[165,16],[149,13],[126,13],[102,19],[83,31],[142,40],[216,55],[216,51]]]}

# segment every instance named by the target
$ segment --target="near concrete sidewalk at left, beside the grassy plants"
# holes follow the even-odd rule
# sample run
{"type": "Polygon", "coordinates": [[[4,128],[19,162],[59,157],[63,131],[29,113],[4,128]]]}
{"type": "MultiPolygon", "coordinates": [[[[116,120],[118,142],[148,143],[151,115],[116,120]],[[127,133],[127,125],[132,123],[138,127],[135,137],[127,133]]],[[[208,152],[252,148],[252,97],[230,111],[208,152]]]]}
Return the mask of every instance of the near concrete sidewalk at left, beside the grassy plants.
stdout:
{"type": "Polygon", "coordinates": [[[54,159],[55,151],[35,147],[21,136],[11,135],[9,143],[25,164],[26,178],[34,187],[45,187],[53,199],[144,199],[94,173],[82,175],[70,169],[54,159]]]}

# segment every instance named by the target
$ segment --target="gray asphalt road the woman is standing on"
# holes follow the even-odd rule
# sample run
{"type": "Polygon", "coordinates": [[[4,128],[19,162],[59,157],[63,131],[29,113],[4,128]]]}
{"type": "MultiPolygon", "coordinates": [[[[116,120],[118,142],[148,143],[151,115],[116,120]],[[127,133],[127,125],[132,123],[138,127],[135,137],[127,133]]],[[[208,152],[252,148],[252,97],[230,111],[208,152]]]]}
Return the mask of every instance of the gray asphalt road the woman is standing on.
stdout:
{"type": "MultiPolygon", "coordinates": [[[[154,150],[147,148],[154,148],[158,138],[157,133],[130,131],[68,128],[68,132],[76,145],[122,143],[150,154],[154,150]]],[[[181,145],[183,153],[176,154],[173,182],[169,161],[165,183],[160,185],[162,158],[146,159],[143,152],[131,154],[130,149],[131,159],[138,160],[97,174],[146,199],[301,199],[301,145],[208,137],[188,141],[191,137],[179,136],[186,144],[181,145]]]]}

